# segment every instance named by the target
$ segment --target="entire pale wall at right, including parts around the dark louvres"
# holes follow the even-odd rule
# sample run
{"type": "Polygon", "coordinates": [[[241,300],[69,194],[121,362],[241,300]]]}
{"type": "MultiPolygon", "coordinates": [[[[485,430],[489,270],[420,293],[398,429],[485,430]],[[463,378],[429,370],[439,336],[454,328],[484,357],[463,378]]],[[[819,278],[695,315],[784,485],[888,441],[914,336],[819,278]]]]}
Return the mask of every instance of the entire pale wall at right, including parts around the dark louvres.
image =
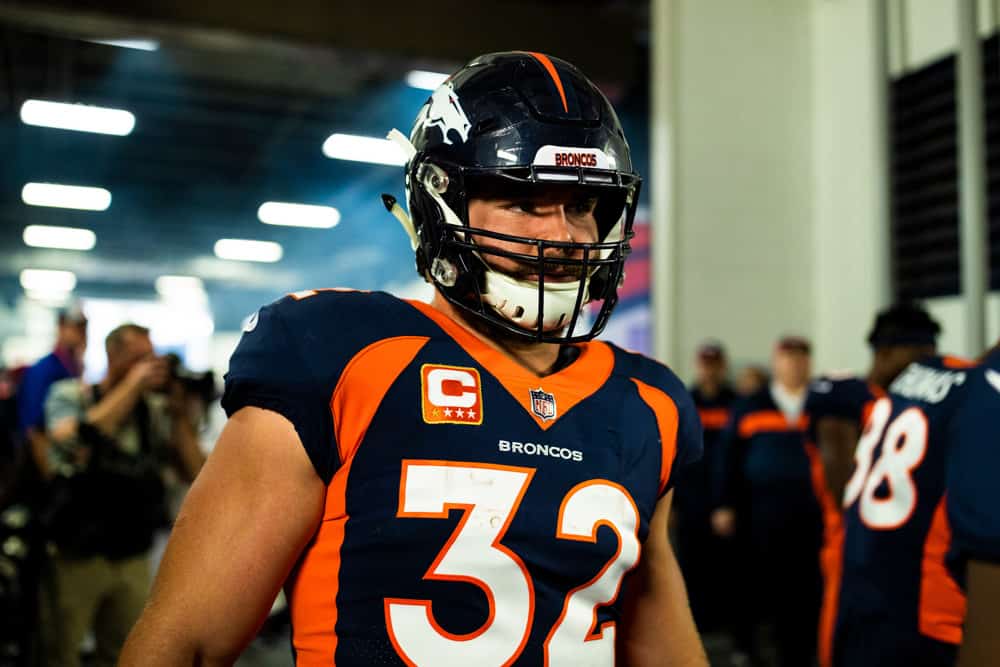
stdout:
{"type": "MultiPolygon", "coordinates": [[[[798,331],[818,370],[865,369],[886,224],[873,0],[654,1],[669,3],[672,40],[668,361],[689,374],[705,336],[738,362],[765,360],[776,335],[798,331]]],[[[954,51],[954,0],[888,3],[893,72],[954,51]]],[[[979,19],[996,30],[1000,0],[979,0],[979,19]]],[[[956,299],[929,306],[944,349],[976,352],[962,349],[956,299]]],[[[996,338],[998,298],[988,322],[996,338]]]]}

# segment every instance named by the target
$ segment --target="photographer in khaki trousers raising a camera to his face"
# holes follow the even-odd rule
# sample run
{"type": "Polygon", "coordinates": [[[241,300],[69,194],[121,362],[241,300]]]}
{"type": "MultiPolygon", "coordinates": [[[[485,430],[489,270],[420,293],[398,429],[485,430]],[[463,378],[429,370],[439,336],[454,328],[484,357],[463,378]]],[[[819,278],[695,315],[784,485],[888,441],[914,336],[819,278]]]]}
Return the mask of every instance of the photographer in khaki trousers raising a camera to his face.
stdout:
{"type": "Polygon", "coordinates": [[[97,385],[53,385],[46,421],[53,483],[47,663],[79,664],[94,625],[95,664],[112,665],[149,590],[153,535],[166,522],[165,474],[193,480],[204,462],[188,395],[149,330],[125,324],[105,341],[97,385]]]}

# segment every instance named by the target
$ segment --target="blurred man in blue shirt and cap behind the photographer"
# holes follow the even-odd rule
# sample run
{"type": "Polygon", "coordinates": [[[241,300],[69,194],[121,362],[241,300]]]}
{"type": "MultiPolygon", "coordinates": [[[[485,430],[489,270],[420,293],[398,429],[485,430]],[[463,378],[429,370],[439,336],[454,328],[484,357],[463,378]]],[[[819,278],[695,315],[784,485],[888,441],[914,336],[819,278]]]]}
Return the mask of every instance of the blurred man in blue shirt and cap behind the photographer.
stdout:
{"type": "Polygon", "coordinates": [[[79,305],[59,311],[55,349],[25,370],[17,389],[18,421],[31,452],[35,474],[49,476],[49,439],[45,433],[45,399],[49,388],[83,374],[87,351],[87,318],[79,305]]]}

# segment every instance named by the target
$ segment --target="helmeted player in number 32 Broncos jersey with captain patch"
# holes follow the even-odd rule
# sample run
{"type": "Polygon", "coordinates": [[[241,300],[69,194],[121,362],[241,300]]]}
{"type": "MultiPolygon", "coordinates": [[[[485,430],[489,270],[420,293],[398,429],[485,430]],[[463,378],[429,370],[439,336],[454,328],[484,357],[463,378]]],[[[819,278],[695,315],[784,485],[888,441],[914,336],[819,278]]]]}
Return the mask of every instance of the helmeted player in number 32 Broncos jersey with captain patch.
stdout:
{"type": "Polygon", "coordinates": [[[611,105],[495,53],[390,137],[432,303],[260,310],[122,664],[229,664],[284,585],[299,665],[707,665],[667,540],[697,412],[592,340],[639,188],[611,105]]]}

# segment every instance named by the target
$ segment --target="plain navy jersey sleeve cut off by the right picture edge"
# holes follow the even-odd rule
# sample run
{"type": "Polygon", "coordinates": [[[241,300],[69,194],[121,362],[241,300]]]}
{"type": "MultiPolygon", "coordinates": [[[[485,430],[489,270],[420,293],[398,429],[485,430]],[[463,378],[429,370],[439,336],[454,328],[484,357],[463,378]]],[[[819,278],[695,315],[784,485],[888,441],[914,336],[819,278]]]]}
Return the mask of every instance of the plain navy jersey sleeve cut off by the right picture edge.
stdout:
{"type": "Polygon", "coordinates": [[[952,555],[1000,563],[1000,373],[972,375],[951,422],[947,511],[952,555]]]}

